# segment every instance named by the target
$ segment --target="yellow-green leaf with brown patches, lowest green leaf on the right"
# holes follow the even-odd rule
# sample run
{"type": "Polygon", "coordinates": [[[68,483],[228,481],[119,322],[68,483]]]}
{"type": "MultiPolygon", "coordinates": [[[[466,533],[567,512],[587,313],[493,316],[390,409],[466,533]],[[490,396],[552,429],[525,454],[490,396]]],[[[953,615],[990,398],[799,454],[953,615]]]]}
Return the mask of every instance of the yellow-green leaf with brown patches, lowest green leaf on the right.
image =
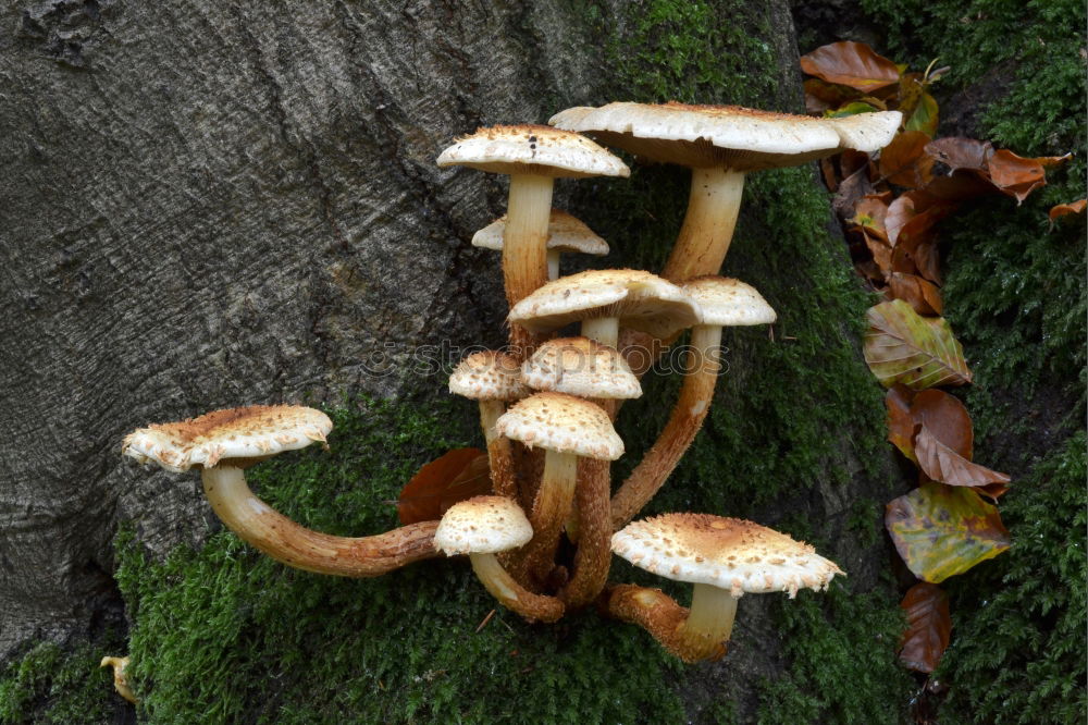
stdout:
{"type": "Polygon", "coordinates": [[[932,481],[890,502],[885,526],[911,572],[932,583],[993,558],[1012,543],[997,506],[973,489],[932,481]]]}

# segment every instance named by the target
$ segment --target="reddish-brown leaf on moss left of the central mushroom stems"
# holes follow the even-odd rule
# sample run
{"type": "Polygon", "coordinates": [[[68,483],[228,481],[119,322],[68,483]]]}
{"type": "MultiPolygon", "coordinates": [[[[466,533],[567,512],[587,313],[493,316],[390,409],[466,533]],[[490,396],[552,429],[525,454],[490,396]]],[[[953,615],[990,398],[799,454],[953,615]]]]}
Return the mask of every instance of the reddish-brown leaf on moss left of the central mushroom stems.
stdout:
{"type": "Polygon", "coordinates": [[[397,502],[401,524],[435,521],[458,501],[491,492],[487,454],[454,448],[419,469],[397,502]]]}

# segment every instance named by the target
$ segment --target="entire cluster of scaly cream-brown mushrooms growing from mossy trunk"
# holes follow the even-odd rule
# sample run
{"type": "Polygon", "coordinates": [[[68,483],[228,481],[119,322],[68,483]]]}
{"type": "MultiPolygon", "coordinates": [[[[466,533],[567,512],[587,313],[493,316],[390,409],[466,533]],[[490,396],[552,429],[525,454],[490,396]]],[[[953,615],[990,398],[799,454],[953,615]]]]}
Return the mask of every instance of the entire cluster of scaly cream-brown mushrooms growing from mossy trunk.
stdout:
{"type": "Polygon", "coordinates": [[[751,521],[669,514],[630,523],[707,415],[722,328],[776,318],[751,285],[716,277],[744,174],[844,148],[875,150],[899,121],[898,112],[812,119],[735,107],[609,103],[562,111],[552,126],[481,128],[443,151],[441,167],[510,176],[506,216],[473,238],[502,250],[510,346],[465,358],[449,379],[452,392],[479,402],[493,495],[457,503],[441,521],[331,537],[254,495],[246,467],[324,442],[332,423],[309,408],[254,406],[151,426],[129,434],[124,452],[170,470],[199,467],[220,518],[289,566],[363,577],[440,552],[468,554],[486,589],[527,619],[554,622],[596,602],[687,662],[718,659],[743,593],[786,591],[792,598],[801,588],[826,588],[841,574],[811,546],[751,521]],[[559,251],[599,255],[608,247],[552,209],[554,180],[629,174],[619,158],[582,134],[644,160],[692,169],[687,217],[660,277],[631,269],[560,277],[559,251]],[[577,336],[556,336],[574,324],[577,336]],[[689,329],[679,401],[657,443],[614,492],[610,463],[625,453],[613,427],[620,403],[641,396],[646,352],[667,347],[689,329]],[[633,351],[643,358],[632,370],[633,351]],[[608,587],[611,552],[692,582],[691,606],[657,589],[608,587]]]}

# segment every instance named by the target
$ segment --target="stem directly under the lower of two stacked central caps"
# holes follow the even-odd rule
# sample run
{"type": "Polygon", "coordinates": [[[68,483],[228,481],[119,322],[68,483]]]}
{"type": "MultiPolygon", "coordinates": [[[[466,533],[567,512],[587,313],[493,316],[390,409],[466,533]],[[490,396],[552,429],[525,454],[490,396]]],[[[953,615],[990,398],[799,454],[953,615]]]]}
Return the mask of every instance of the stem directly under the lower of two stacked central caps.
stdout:
{"type": "Polygon", "coordinates": [[[526,545],[526,566],[540,580],[552,570],[553,556],[564,521],[570,513],[578,480],[578,456],[548,450],[544,456],[544,472],[536,491],[529,521],[533,538],[526,545]]]}

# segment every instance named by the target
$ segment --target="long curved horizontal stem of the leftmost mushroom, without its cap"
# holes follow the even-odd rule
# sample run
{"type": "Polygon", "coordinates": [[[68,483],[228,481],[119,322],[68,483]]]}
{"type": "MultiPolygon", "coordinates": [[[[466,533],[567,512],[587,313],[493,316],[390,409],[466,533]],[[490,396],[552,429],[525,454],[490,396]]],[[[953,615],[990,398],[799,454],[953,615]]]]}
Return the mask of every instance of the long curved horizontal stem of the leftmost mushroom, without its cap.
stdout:
{"type": "Polygon", "coordinates": [[[287,566],[342,577],[376,577],[406,564],[434,558],[437,521],[403,526],[372,537],[311,531],[280,514],[246,486],[240,468],[205,468],[205,495],[212,511],[243,540],[287,566]]]}

